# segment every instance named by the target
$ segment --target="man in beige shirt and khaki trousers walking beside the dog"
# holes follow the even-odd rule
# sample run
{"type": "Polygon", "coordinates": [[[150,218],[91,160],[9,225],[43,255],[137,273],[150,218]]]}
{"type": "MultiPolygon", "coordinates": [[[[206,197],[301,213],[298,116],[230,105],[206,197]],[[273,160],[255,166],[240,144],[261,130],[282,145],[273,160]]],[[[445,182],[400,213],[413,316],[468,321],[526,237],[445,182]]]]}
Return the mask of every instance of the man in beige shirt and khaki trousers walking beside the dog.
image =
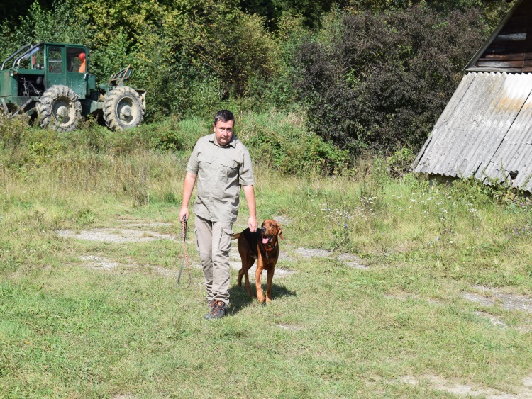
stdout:
{"type": "Polygon", "coordinates": [[[203,267],[208,320],[226,315],[229,303],[229,249],[233,222],[238,215],[240,186],[248,202],[248,226],[257,231],[253,169],[248,149],[233,133],[235,117],[222,110],[214,116],[214,134],[201,137],[192,151],[183,184],[179,220],[189,218],[189,200],[196,178],[194,201],[196,245],[203,267]]]}

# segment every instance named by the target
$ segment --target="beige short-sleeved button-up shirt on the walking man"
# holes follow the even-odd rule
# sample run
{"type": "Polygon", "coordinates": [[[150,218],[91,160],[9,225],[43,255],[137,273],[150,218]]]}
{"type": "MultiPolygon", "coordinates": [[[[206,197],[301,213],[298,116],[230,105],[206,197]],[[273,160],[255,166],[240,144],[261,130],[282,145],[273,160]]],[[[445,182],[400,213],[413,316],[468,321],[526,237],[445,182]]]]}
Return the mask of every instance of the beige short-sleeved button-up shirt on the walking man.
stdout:
{"type": "Polygon", "coordinates": [[[233,133],[224,147],[214,133],[201,137],[190,156],[187,172],[198,176],[194,213],[215,222],[235,222],[240,204],[240,186],[253,186],[248,149],[233,133]]]}

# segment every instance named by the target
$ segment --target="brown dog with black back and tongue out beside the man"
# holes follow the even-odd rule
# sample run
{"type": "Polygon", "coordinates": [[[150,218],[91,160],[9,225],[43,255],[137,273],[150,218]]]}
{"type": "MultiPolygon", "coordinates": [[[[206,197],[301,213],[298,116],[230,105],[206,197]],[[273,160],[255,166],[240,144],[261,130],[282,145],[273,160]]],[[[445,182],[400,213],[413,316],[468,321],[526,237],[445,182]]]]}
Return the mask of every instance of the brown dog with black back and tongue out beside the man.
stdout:
{"type": "Polygon", "coordinates": [[[257,232],[250,232],[250,229],[245,229],[243,232],[233,235],[233,238],[238,238],[238,252],[240,259],[242,259],[242,269],[238,271],[238,286],[242,286],[242,277],[245,276],[245,288],[248,289],[250,296],[253,296],[248,271],[257,259],[255,286],[257,287],[257,299],[260,303],[264,302],[264,294],[260,285],[262,270],[268,271],[266,302],[272,302],[272,279],[275,264],[279,259],[278,237],[284,239],[281,226],[272,219],[266,219],[262,223],[262,228],[257,229],[257,232]]]}

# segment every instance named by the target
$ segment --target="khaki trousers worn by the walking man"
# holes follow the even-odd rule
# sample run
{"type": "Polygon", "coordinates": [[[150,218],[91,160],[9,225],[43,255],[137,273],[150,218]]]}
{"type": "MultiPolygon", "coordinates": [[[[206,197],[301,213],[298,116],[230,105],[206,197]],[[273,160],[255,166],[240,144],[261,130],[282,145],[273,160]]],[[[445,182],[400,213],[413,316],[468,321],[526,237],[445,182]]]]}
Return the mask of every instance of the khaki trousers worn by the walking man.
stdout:
{"type": "Polygon", "coordinates": [[[229,250],[232,222],[213,222],[196,215],[196,248],[198,249],[208,300],[229,303],[229,250]]]}

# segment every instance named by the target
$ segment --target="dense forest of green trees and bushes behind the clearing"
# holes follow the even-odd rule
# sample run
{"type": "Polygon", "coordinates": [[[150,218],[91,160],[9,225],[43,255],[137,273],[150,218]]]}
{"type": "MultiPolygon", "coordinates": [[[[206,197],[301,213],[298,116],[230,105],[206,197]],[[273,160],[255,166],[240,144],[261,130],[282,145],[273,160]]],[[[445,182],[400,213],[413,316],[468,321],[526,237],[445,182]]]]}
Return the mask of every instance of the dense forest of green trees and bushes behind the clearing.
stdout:
{"type": "Polygon", "coordinates": [[[419,150],[511,4],[23,0],[0,4],[0,58],[57,41],[87,45],[99,82],[131,64],[147,122],[210,118],[221,106],[299,111],[305,130],[334,145],[319,154],[332,172],[341,154],[419,150]]]}

